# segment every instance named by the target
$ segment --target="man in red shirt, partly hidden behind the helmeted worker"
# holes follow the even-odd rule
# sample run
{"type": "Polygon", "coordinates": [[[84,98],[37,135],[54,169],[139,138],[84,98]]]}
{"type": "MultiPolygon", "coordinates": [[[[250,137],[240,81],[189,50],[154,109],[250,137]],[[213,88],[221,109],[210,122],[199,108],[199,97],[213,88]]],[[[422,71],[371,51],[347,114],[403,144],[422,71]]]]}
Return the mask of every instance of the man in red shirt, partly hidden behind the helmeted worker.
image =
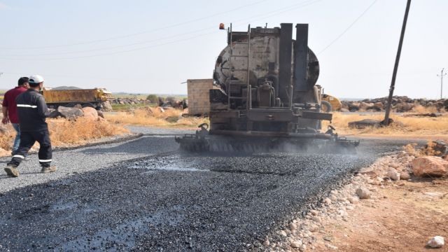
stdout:
{"type": "Polygon", "coordinates": [[[2,104],[3,106],[1,107],[1,111],[3,112],[3,119],[1,120],[1,123],[11,123],[15,132],[17,132],[17,134],[15,134],[12,155],[14,155],[20,145],[20,127],[15,98],[18,97],[19,94],[22,94],[22,92],[27,91],[29,88],[28,80],[29,79],[27,77],[20,78],[18,81],[18,86],[12,90],[8,90],[8,92],[5,93],[2,104]]]}

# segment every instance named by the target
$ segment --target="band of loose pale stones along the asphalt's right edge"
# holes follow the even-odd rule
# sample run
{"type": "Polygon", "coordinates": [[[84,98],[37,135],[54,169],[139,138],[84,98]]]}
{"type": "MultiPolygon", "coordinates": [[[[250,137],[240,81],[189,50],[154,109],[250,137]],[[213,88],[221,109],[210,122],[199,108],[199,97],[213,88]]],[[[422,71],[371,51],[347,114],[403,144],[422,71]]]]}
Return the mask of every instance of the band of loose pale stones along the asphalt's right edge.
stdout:
{"type": "MultiPolygon", "coordinates": [[[[325,226],[328,223],[335,220],[349,221],[351,211],[356,209],[360,201],[374,207],[375,202],[380,198],[377,193],[378,188],[398,186],[403,183],[400,180],[412,179],[412,174],[415,176],[428,175],[433,168],[426,163],[440,165],[448,164],[448,161],[433,156],[416,158],[405,151],[379,158],[370,167],[361,169],[356,176],[353,176],[351,183],[339,190],[332,190],[328,197],[322,200],[321,207],[309,210],[304,218],[297,218],[290,221],[288,225],[283,225],[283,229],[276,231],[276,235],[280,237],[279,241],[269,240],[266,237],[263,245],[265,248],[269,248],[269,251],[316,251],[316,246],[337,250],[337,246],[332,244],[334,238],[326,235],[325,226]],[[424,165],[416,168],[416,164],[424,165]],[[426,169],[426,167],[430,168],[426,169]],[[421,169],[422,172],[417,172],[416,169],[421,169]]],[[[439,171],[437,170],[437,172],[439,171]]],[[[448,174],[445,171],[444,176],[446,175],[448,174]]],[[[444,246],[444,239],[443,237],[433,237],[428,241],[427,246],[440,248],[444,246]]]]}

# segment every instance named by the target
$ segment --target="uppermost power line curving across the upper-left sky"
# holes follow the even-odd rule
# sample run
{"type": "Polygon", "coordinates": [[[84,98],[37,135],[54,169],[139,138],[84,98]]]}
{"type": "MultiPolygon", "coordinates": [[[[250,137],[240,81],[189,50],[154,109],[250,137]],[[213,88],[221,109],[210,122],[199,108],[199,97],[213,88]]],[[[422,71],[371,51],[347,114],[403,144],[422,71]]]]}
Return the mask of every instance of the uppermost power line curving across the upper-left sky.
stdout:
{"type": "Polygon", "coordinates": [[[122,36],[113,36],[111,38],[97,39],[97,40],[92,40],[92,41],[83,41],[83,42],[79,42],[79,43],[71,43],[71,44],[64,44],[64,45],[46,45],[46,46],[36,46],[36,47],[29,47],[29,48],[0,48],[0,49],[2,49],[2,50],[30,50],[31,49],[32,50],[32,49],[45,49],[45,48],[61,48],[61,47],[69,47],[69,46],[73,46],[73,45],[85,45],[85,44],[90,44],[90,43],[99,43],[99,42],[111,41],[111,40],[115,40],[115,39],[118,39],[118,38],[127,38],[127,37],[131,37],[131,36],[138,36],[138,35],[141,35],[141,34],[148,34],[148,33],[154,32],[154,31],[160,31],[160,30],[163,30],[163,29],[179,27],[181,25],[186,25],[186,24],[190,24],[192,22],[205,20],[207,18],[214,18],[214,17],[216,17],[216,15],[223,15],[225,13],[230,13],[232,11],[239,10],[241,8],[246,8],[248,6],[254,6],[254,5],[256,5],[258,3],[262,3],[264,1],[267,1],[267,0],[257,1],[255,3],[246,4],[244,6],[239,6],[237,8],[232,8],[230,10],[225,10],[223,12],[214,13],[212,15],[207,15],[207,16],[202,17],[202,18],[196,18],[194,20],[188,20],[186,22],[176,23],[174,25],[168,25],[168,26],[165,26],[165,27],[159,27],[159,28],[151,29],[151,30],[147,30],[147,31],[140,31],[140,32],[137,32],[137,33],[134,33],[134,34],[126,34],[126,35],[122,35],[122,36]]]}

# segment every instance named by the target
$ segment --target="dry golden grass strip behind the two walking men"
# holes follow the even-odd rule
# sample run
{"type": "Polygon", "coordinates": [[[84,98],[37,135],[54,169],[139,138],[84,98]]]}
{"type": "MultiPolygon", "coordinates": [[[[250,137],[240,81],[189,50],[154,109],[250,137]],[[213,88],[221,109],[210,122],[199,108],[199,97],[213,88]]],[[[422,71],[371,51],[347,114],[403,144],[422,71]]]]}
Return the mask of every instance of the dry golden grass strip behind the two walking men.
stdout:
{"type": "MultiPolygon", "coordinates": [[[[89,120],[87,118],[78,118],[76,121],[48,119],[47,122],[52,146],[87,144],[92,139],[112,137],[128,132],[124,127],[111,124],[106,120],[89,120]]],[[[15,131],[11,125],[2,126],[0,130],[0,155],[5,155],[5,153],[8,155],[13,147],[15,131]]]]}

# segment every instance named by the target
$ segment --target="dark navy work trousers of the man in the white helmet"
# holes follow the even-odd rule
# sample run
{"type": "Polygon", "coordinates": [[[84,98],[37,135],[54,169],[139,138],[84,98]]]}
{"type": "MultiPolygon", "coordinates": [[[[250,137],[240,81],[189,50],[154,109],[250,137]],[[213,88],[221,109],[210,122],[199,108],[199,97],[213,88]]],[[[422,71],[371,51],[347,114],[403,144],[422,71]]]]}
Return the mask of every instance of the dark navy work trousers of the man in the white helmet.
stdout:
{"type": "Polygon", "coordinates": [[[52,158],[52,149],[50,142],[50,133],[48,130],[40,130],[36,132],[20,132],[20,146],[14,153],[13,159],[8,162],[8,165],[18,167],[20,162],[25,158],[29,149],[36,143],[41,145],[39,148],[39,163],[42,167],[50,167],[52,158]]]}

